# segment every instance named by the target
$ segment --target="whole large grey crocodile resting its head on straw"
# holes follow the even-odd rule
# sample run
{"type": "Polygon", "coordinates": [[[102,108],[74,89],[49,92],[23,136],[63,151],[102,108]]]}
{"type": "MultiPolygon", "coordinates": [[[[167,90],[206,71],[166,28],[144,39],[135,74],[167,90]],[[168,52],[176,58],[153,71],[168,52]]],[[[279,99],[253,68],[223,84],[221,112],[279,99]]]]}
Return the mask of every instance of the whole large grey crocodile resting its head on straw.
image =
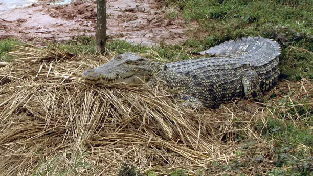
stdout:
{"type": "Polygon", "coordinates": [[[207,58],[160,63],[131,52],[117,55],[82,77],[88,83],[156,82],[180,89],[180,98],[193,105],[219,107],[233,98],[263,102],[263,93],[278,81],[280,46],[258,37],[230,40],[202,55],[207,58]]]}

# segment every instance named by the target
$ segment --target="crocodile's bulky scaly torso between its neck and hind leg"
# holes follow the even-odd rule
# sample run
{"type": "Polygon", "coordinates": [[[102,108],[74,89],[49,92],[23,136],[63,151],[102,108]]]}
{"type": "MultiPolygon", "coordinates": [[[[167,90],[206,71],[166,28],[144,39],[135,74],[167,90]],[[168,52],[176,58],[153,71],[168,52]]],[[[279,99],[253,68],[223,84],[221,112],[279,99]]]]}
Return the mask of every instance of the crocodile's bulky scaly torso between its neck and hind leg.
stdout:
{"type": "Polygon", "coordinates": [[[202,58],[168,63],[161,77],[170,87],[184,87],[185,94],[197,98],[205,107],[218,107],[242,97],[240,75],[249,69],[249,65],[235,58],[202,58]]]}

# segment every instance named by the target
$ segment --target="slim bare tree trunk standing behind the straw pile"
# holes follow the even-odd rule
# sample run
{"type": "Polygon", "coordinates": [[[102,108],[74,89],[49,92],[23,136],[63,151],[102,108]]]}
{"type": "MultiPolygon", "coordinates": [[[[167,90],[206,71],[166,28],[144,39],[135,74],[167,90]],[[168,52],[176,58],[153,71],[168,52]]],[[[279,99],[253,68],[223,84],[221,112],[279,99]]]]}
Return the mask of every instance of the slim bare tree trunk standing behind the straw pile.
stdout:
{"type": "Polygon", "coordinates": [[[105,0],[97,0],[96,50],[105,51],[106,7],[105,0]]]}

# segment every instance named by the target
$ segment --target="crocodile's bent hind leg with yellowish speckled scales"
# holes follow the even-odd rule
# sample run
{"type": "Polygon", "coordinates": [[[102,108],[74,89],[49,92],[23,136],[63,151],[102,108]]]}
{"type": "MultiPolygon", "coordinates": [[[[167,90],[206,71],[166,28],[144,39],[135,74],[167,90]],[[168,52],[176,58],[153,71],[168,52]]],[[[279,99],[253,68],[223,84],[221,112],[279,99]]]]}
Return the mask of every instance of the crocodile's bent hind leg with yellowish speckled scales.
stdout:
{"type": "Polygon", "coordinates": [[[253,98],[256,102],[264,102],[259,76],[255,71],[248,70],[245,72],[242,77],[242,84],[247,99],[253,98]]]}

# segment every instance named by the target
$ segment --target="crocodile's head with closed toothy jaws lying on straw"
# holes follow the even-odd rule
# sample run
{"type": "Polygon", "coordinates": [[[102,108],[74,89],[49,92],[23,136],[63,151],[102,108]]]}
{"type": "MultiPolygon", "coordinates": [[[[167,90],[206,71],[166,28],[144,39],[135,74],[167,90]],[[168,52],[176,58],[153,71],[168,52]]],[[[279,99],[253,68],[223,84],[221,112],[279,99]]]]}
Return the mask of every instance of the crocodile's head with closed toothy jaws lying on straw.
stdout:
{"type": "Polygon", "coordinates": [[[158,64],[135,53],[126,52],[95,69],[85,70],[82,77],[92,84],[146,82],[158,64]]]}

